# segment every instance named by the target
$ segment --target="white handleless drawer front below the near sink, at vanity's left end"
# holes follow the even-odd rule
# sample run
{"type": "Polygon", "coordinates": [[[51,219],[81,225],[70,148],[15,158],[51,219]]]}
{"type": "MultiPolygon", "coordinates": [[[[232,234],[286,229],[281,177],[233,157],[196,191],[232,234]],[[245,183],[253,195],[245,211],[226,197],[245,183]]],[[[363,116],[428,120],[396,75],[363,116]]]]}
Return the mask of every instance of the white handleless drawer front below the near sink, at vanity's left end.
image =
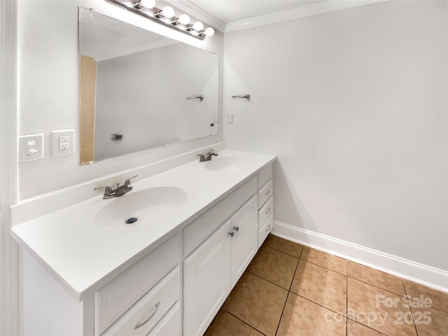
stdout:
{"type": "Polygon", "coordinates": [[[179,263],[179,234],[118,275],[96,293],[96,334],[100,335],[179,263]]]}

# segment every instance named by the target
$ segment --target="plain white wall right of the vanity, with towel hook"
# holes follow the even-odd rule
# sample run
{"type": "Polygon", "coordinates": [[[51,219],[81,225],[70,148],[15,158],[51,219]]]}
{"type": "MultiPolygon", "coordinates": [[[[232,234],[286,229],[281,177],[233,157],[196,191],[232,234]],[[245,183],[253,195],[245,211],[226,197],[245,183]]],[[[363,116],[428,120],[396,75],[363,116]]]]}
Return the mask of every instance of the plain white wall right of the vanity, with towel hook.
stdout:
{"type": "Polygon", "coordinates": [[[448,270],[446,1],[234,31],[224,48],[226,146],[278,154],[276,221],[448,270]]]}

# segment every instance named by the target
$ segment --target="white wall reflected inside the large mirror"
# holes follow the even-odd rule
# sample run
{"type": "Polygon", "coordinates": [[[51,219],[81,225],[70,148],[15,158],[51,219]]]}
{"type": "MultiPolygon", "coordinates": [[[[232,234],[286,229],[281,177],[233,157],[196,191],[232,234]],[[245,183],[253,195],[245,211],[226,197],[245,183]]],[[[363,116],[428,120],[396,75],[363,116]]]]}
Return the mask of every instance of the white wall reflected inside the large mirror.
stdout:
{"type": "Polygon", "coordinates": [[[218,80],[218,55],[184,43],[97,62],[95,160],[218,134],[218,80]]]}

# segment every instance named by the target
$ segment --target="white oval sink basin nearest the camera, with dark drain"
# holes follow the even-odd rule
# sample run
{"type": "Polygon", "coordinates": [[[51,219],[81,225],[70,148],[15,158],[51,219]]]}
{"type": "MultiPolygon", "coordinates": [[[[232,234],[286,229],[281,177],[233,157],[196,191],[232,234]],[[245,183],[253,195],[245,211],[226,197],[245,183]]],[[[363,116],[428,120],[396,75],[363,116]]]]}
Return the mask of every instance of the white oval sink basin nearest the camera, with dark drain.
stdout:
{"type": "Polygon", "coordinates": [[[153,225],[171,216],[186,200],[186,191],[176,187],[131,191],[113,198],[102,207],[94,216],[94,223],[109,230],[129,230],[153,225]]]}

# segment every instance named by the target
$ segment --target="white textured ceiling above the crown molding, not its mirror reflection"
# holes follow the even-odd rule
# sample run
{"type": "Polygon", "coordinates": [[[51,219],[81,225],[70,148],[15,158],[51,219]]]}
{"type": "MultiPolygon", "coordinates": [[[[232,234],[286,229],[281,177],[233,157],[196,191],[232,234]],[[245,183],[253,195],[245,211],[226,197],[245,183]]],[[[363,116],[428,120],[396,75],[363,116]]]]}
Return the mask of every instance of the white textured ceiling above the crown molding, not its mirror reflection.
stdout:
{"type": "Polygon", "coordinates": [[[188,0],[226,25],[324,0],[188,0]]]}

